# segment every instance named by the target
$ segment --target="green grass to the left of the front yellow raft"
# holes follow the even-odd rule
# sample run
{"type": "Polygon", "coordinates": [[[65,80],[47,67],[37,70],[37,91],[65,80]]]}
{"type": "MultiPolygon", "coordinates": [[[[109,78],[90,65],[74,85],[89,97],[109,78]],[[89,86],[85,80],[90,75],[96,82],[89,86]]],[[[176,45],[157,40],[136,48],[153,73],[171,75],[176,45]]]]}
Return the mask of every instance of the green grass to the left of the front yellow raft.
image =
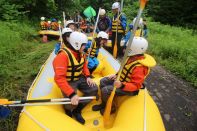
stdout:
{"type": "MultiPolygon", "coordinates": [[[[0,22],[0,29],[0,98],[25,99],[55,41],[42,44],[37,31],[25,23],[0,22]]],[[[9,118],[0,120],[1,131],[16,130],[21,109],[11,108],[9,118]]]]}

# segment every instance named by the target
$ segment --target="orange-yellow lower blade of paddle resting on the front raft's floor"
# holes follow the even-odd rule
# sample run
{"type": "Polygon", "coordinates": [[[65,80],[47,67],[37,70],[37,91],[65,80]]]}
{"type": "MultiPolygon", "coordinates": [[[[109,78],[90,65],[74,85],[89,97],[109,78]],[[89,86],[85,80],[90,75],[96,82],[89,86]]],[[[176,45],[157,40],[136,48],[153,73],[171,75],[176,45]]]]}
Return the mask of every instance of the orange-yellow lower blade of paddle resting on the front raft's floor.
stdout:
{"type": "Polygon", "coordinates": [[[103,123],[104,123],[105,128],[112,127],[112,122],[110,122],[110,113],[111,113],[112,102],[113,102],[113,99],[114,99],[115,92],[116,92],[116,87],[113,88],[113,91],[112,91],[109,99],[107,100],[107,104],[106,104],[106,107],[105,107],[105,112],[104,112],[104,115],[103,115],[103,123]]]}

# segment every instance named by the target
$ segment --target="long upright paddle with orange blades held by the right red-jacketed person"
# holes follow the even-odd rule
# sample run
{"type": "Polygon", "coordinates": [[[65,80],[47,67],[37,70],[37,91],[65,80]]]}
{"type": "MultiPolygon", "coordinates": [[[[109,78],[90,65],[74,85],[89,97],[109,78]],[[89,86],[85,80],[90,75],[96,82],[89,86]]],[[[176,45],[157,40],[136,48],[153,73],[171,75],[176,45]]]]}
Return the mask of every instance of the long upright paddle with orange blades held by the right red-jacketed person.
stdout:
{"type": "MultiPolygon", "coordinates": [[[[123,67],[124,67],[125,63],[126,63],[127,54],[128,54],[129,48],[131,47],[131,44],[132,44],[132,41],[133,41],[133,38],[134,38],[133,34],[135,34],[135,32],[136,32],[137,25],[139,24],[139,20],[140,20],[141,14],[143,12],[143,9],[146,5],[146,2],[147,2],[147,0],[140,0],[140,9],[138,11],[136,22],[134,24],[133,33],[131,33],[131,37],[129,39],[129,42],[128,42],[128,45],[127,45],[127,48],[126,48],[126,51],[125,51],[125,54],[124,54],[124,57],[123,57],[123,61],[122,61],[121,66],[120,66],[120,70],[118,72],[117,80],[119,80],[120,74],[123,70],[123,67]]],[[[105,112],[104,112],[104,116],[103,116],[104,127],[105,128],[110,128],[112,126],[112,124],[110,125],[109,119],[110,119],[111,106],[112,106],[112,101],[113,101],[113,98],[114,98],[114,95],[115,95],[115,91],[116,91],[116,87],[113,88],[113,91],[112,91],[112,93],[111,93],[111,95],[110,95],[110,97],[107,101],[106,107],[105,107],[105,112]]]]}

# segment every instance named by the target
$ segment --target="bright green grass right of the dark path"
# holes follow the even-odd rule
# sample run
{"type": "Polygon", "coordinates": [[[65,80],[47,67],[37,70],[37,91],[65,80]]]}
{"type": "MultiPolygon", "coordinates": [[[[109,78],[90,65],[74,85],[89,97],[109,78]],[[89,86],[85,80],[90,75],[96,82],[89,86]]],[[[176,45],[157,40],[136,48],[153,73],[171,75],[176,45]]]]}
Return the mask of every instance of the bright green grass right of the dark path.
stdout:
{"type": "Polygon", "coordinates": [[[148,27],[149,49],[158,63],[197,87],[197,34],[156,22],[148,27]]]}

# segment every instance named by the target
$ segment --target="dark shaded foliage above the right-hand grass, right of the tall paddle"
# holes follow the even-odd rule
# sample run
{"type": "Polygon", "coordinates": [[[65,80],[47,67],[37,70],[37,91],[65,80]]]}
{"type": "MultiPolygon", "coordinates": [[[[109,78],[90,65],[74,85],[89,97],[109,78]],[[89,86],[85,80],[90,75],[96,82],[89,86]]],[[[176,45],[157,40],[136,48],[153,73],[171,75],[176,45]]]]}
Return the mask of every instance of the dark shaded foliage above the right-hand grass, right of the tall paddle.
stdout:
{"type": "Polygon", "coordinates": [[[149,15],[164,24],[197,29],[196,0],[150,0],[149,15]]]}

